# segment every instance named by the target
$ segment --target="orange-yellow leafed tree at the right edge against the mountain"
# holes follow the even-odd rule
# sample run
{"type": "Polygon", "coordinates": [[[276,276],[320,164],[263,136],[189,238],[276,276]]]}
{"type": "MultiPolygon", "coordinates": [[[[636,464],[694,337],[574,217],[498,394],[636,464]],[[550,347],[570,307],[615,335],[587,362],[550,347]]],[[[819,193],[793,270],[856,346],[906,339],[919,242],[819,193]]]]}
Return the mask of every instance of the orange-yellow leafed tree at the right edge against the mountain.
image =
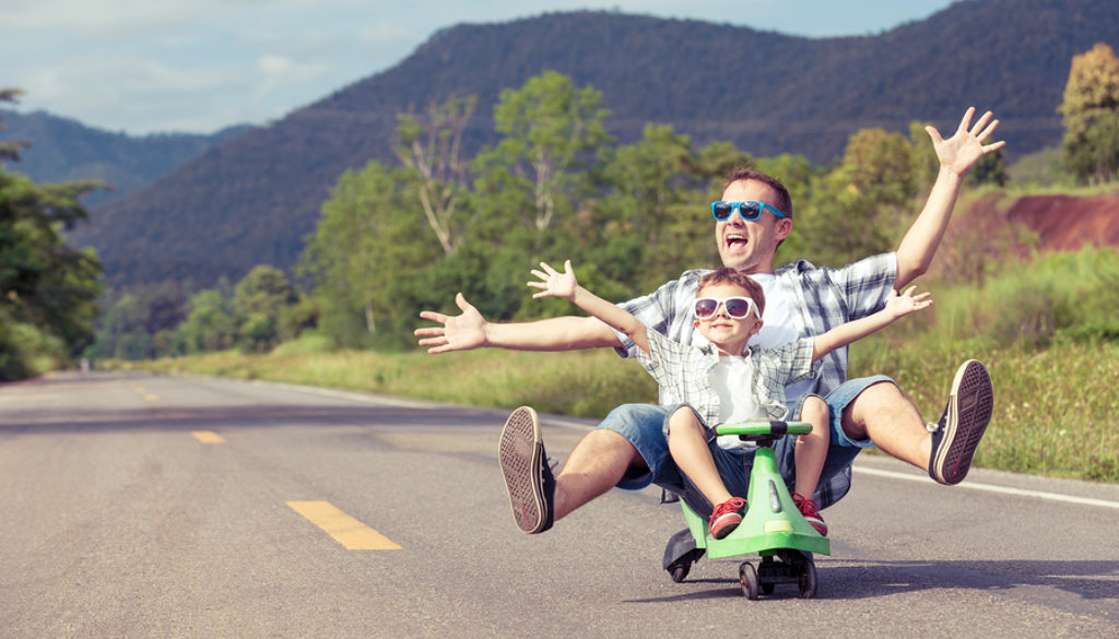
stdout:
{"type": "Polygon", "coordinates": [[[1116,178],[1119,137],[1111,132],[1119,114],[1119,58],[1106,44],[1074,56],[1057,107],[1064,121],[1062,157],[1080,181],[1106,182],[1116,178]]]}

